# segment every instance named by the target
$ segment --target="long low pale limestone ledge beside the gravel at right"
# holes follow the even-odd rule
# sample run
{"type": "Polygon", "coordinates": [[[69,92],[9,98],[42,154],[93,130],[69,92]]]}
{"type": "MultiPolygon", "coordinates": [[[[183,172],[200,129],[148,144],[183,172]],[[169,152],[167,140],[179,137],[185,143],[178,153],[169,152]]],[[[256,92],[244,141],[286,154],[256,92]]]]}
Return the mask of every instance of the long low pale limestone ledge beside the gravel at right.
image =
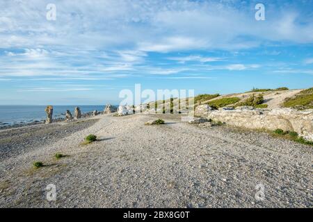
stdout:
{"type": "MultiPolygon", "coordinates": [[[[200,105],[199,105],[200,106],[200,105]]],[[[196,109],[197,110],[197,109],[196,109]]],[[[222,121],[232,126],[251,129],[294,131],[300,137],[313,141],[313,110],[293,110],[291,108],[275,108],[250,110],[208,110],[198,109],[197,116],[214,121],[222,121]]]]}

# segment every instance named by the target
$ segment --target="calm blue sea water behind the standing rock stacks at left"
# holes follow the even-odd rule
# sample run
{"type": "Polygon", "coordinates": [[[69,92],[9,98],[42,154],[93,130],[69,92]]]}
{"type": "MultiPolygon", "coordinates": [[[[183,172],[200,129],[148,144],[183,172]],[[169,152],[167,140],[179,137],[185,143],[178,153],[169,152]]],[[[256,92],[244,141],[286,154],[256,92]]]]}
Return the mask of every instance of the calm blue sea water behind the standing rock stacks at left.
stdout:
{"type": "MultiPolygon", "coordinates": [[[[54,118],[64,117],[66,110],[74,116],[77,105],[54,105],[54,118]]],[[[78,105],[81,112],[103,111],[105,105],[78,105]]],[[[46,105],[0,105],[0,126],[3,124],[27,123],[46,119],[46,105]]]]}

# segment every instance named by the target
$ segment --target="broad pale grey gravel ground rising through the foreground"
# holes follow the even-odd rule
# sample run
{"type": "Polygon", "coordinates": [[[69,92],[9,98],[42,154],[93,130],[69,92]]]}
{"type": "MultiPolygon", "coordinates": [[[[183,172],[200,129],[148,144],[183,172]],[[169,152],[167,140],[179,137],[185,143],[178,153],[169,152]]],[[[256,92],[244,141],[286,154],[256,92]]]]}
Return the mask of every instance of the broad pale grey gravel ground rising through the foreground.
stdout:
{"type": "Polygon", "coordinates": [[[144,126],[159,116],[97,116],[67,137],[2,159],[0,206],[312,207],[312,146],[161,117],[165,125],[144,126]],[[99,141],[81,145],[90,133],[99,141]],[[56,152],[67,156],[55,160],[56,152]],[[33,169],[35,160],[45,167],[33,169]],[[56,201],[46,199],[49,184],[56,201]]]}

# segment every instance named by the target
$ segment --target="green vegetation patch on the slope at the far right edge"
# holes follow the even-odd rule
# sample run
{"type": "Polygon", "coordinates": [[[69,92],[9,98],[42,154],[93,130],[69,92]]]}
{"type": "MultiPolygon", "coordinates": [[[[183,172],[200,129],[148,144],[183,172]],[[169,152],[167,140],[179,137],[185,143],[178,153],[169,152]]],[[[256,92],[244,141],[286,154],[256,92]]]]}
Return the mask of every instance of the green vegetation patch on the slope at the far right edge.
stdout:
{"type": "Polygon", "coordinates": [[[287,98],[282,104],[286,108],[296,108],[298,110],[306,110],[313,108],[313,87],[305,89],[296,94],[296,96],[287,98]]]}

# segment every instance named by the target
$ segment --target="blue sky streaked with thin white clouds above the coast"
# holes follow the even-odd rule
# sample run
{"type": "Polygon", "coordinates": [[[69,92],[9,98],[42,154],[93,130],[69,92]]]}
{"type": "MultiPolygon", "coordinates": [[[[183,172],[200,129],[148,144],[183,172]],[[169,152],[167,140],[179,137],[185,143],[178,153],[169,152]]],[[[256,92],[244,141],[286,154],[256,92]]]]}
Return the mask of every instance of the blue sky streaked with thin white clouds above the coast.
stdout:
{"type": "Polygon", "coordinates": [[[313,0],[0,0],[0,105],[118,104],[135,84],[195,94],[313,87],[312,8],[313,0]]]}

